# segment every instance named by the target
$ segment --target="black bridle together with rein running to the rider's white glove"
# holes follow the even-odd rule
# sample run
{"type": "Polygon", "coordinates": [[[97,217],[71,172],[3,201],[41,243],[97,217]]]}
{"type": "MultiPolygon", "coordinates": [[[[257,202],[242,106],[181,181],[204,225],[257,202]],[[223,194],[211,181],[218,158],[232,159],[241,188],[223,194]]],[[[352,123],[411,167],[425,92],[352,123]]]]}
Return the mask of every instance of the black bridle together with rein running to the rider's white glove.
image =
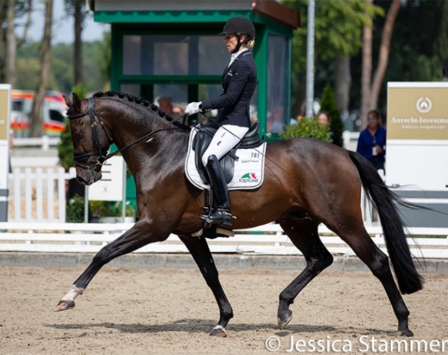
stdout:
{"type": "Polygon", "coordinates": [[[172,121],[167,122],[167,124],[165,124],[162,128],[156,129],[155,131],[152,131],[150,133],[147,133],[146,135],[143,135],[143,137],[140,137],[138,140],[135,140],[134,142],[131,142],[130,144],[123,146],[123,148],[117,150],[117,151],[113,151],[112,153],[109,153],[106,155],[107,150],[103,151],[103,148],[101,147],[101,142],[99,140],[99,133],[98,133],[98,124],[95,120],[95,117],[98,117],[99,120],[99,124],[103,127],[103,130],[105,131],[106,135],[109,138],[110,144],[112,144],[114,142],[112,135],[110,134],[108,128],[105,126],[103,120],[101,119],[101,117],[98,115],[98,113],[96,113],[95,111],[95,100],[93,97],[89,97],[87,99],[88,102],[88,107],[87,110],[85,110],[85,112],[83,113],[79,113],[77,115],[70,115],[68,116],[68,119],[77,119],[77,118],[81,118],[84,116],[89,115],[90,117],[90,127],[92,128],[92,139],[93,139],[93,143],[94,143],[94,151],[90,152],[90,153],[83,153],[83,152],[75,152],[73,153],[73,160],[74,160],[74,164],[76,164],[77,166],[81,167],[84,170],[92,170],[94,168],[94,166],[96,165],[100,165],[102,166],[108,159],[110,159],[110,157],[113,157],[114,155],[117,155],[118,153],[121,153],[122,151],[124,151],[125,149],[130,148],[131,146],[134,146],[137,143],[140,143],[141,141],[145,140],[147,137],[150,137],[151,135],[155,134],[155,133],[159,133],[161,131],[165,131],[166,127],[169,124],[172,124],[174,122],[179,121],[180,119],[187,117],[187,114],[184,114],[180,117],[177,117],[176,119],[173,119],[172,121]],[[96,155],[96,162],[90,164],[90,165],[84,165],[81,164],[80,162],[82,162],[83,160],[85,160],[86,158],[90,157],[91,155],[96,155]]]}

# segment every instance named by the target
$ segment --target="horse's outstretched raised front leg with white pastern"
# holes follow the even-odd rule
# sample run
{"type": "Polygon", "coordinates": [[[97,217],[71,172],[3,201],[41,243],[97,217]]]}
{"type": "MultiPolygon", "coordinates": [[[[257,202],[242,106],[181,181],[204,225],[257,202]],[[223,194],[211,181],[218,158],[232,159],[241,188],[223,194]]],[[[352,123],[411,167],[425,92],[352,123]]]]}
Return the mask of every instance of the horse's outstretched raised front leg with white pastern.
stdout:
{"type": "Polygon", "coordinates": [[[154,226],[151,226],[150,223],[144,220],[139,220],[129,231],[113,242],[105,245],[105,247],[96,253],[88,268],[73,283],[70,291],[63,296],[54,311],[64,311],[65,309],[73,308],[74,298],[83,294],[85,287],[89,285],[92,278],[94,278],[103,265],[112,261],[114,258],[130,253],[146,244],[165,240],[170,235],[169,233],[154,235],[154,233],[151,233],[152,230],[154,230],[154,226]]]}

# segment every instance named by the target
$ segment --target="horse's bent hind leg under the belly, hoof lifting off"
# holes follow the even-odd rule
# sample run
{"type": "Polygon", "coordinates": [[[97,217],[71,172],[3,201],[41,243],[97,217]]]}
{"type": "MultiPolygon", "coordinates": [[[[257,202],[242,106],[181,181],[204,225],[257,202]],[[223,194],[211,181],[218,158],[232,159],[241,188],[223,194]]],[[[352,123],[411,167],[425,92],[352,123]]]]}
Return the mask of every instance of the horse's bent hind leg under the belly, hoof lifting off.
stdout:
{"type": "Polygon", "coordinates": [[[280,294],[277,320],[283,329],[292,318],[289,305],[302,289],[323,269],[332,265],[333,256],[318,235],[318,223],[312,220],[281,220],[281,227],[294,245],[303,253],[307,266],[280,294]]]}

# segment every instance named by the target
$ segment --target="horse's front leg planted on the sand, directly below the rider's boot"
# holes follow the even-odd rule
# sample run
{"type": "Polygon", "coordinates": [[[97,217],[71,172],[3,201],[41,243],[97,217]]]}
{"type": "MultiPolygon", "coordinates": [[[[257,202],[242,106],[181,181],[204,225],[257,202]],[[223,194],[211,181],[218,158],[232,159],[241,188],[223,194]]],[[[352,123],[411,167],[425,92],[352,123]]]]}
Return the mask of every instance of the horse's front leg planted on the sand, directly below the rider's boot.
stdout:
{"type": "Polygon", "coordinates": [[[229,320],[233,318],[234,313],[232,306],[225,296],[223,287],[218,278],[218,270],[214,265],[212,253],[208,247],[205,238],[193,238],[191,236],[179,236],[182,242],[187,247],[188,251],[192,254],[192,257],[201,270],[201,274],[207,282],[207,286],[212,289],[216,303],[219,307],[219,321],[216,327],[210,332],[210,336],[221,336],[224,338],[227,336],[225,333],[225,327],[229,320]]]}

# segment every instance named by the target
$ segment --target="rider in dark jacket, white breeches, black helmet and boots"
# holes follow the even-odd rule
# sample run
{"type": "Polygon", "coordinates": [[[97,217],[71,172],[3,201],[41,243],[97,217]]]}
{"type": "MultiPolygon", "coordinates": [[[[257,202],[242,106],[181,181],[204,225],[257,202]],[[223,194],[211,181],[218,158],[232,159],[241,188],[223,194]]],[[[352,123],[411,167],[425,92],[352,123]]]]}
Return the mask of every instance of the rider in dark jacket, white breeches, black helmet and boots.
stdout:
{"type": "Polygon", "coordinates": [[[219,35],[225,35],[224,44],[232,53],[223,72],[223,93],[213,99],[188,104],[185,113],[194,115],[220,109],[216,119],[219,128],[202,156],[218,206],[210,217],[203,214],[199,218],[208,223],[230,226],[229,191],[219,160],[243,139],[251,125],[249,104],[256,88],[256,66],[249,48],[254,46],[255,27],[245,17],[232,17],[219,35]]]}

